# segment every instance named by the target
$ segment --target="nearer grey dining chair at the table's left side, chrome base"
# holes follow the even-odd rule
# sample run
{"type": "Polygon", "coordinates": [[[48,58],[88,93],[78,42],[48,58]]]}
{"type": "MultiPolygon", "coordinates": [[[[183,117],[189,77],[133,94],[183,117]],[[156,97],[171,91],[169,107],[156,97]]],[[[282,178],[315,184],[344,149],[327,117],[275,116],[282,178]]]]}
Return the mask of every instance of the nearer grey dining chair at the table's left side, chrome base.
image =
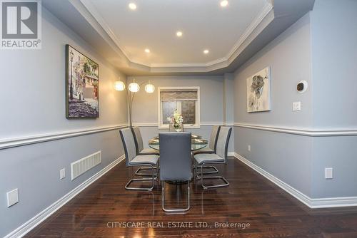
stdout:
{"type": "Polygon", "coordinates": [[[157,167],[159,155],[138,155],[136,153],[136,146],[134,135],[131,132],[131,128],[124,128],[119,130],[121,141],[123,143],[125,152],[125,162],[127,167],[134,166],[149,166],[151,167],[151,178],[131,179],[125,185],[126,190],[148,190],[151,191],[154,188],[155,180],[155,167],[157,167]],[[129,187],[131,182],[146,182],[152,181],[151,187],[129,187]]]}

